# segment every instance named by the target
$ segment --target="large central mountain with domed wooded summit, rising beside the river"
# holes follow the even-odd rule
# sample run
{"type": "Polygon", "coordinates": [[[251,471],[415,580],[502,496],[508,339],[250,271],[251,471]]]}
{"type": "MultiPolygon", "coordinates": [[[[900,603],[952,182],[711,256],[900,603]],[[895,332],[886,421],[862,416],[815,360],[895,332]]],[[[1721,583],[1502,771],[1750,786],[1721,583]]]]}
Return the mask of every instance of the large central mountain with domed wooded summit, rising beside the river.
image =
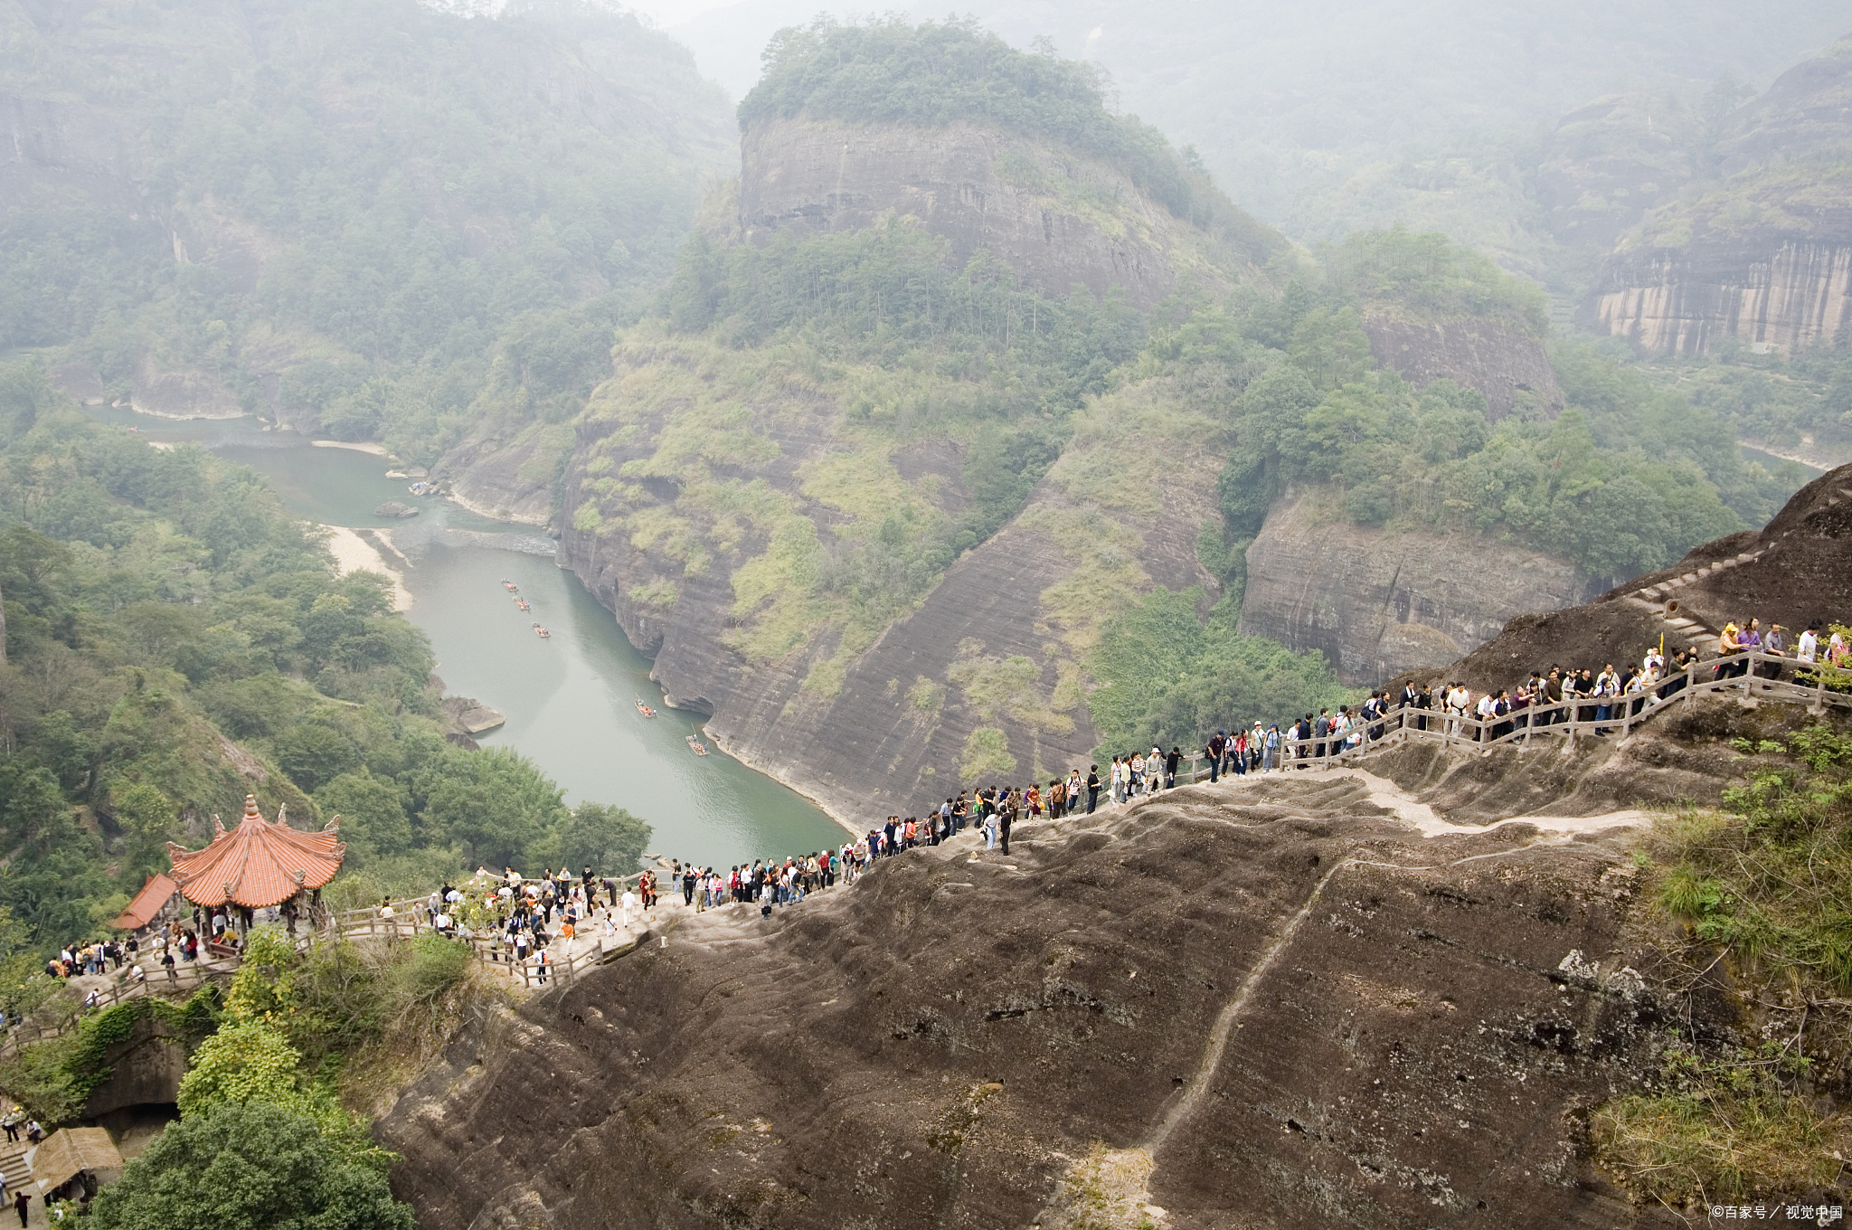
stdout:
{"type": "Polygon", "coordinates": [[[730,750],[843,810],[1328,702],[1241,634],[1287,493],[1587,585],[1796,485],[1598,354],[1552,363],[1489,259],[1291,252],[1083,67],[970,22],[789,31],[741,117],[737,193],[578,422],[561,559],[730,750]]]}

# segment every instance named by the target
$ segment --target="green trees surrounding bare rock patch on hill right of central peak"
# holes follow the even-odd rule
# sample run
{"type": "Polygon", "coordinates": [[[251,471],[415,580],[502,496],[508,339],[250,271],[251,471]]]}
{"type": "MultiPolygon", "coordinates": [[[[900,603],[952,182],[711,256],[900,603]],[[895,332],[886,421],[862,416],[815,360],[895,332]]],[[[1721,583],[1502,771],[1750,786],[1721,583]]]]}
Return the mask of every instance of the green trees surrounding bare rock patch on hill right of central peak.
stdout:
{"type": "Polygon", "coordinates": [[[1761,524],[1791,495],[1745,465],[1715,413],[1656,391],[1593,346],[1552,348],[1570,406],[1556,420],[1489,422],[1474,389],[1450,380],[1417,389],[1395,370],[1370,370],[1358,304],[1504,319],[1526,332],[1543,328],[1541,309],[1441,235],[1352,237],[1328,261],[1322,282],[1230,313],[1237,335],[1222,361],[1248,372],[1230,391],[1219,487],[1233,539],[1252,539],[1289,483],[1330,483],[1332,502],[1358,524],[1504,533],[1620,580],[1761,524]]]}

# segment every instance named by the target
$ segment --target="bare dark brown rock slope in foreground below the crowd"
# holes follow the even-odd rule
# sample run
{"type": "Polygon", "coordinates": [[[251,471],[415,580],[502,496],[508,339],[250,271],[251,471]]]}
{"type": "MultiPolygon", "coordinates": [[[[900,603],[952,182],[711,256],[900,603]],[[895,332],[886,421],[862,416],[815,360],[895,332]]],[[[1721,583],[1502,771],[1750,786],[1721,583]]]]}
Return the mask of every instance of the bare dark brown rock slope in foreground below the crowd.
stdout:
{"type": "Polygon", "coordinates": [[[428,1230],[1082,1224],[1091,1174],[1124,1224],[1678,1224],[1582,1158],[1658,1061],[1619,839],[1422,837],[1339,776],[970,852],[491,1019],[383,1121],[394,1189],[428,1230]]]}

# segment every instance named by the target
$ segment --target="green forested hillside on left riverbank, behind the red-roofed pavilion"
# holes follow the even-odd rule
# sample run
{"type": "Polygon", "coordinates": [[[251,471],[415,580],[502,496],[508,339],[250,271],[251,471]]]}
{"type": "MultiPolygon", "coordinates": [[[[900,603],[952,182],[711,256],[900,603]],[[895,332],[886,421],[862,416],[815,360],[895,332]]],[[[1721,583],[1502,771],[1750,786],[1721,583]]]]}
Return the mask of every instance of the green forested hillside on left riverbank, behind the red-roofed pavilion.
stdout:
{"type": "Polygon", "coordinates": [[[337,576],[254,472],[100,428],[41,369],[0,365],[0,908],[19,924],[0,958],[91,934],[167,841],[202,845],[246,793],[296,824],[339,815],[348,893],[641,854],[637,821],[569,813],[519,754],[446,739],[430,645],[385,578],[337,576]]]}

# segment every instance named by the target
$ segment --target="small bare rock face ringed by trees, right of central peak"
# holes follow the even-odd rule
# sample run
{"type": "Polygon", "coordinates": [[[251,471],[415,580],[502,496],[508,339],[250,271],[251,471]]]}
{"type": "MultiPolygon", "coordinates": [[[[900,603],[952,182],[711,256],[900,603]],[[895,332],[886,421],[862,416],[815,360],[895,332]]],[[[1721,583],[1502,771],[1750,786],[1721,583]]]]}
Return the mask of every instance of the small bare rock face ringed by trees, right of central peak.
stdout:
{"type": "Polygon", "coordinates": [[[1367,315],[1363,332],[1376,367],[1402,372],[1417,389],[1443,378],[1478,389],[1493,420],[1513,409],[1548,419],[1563,413],[1563,389],[1543,343],[1502,320],[1424,322],[1367,315]]]}

